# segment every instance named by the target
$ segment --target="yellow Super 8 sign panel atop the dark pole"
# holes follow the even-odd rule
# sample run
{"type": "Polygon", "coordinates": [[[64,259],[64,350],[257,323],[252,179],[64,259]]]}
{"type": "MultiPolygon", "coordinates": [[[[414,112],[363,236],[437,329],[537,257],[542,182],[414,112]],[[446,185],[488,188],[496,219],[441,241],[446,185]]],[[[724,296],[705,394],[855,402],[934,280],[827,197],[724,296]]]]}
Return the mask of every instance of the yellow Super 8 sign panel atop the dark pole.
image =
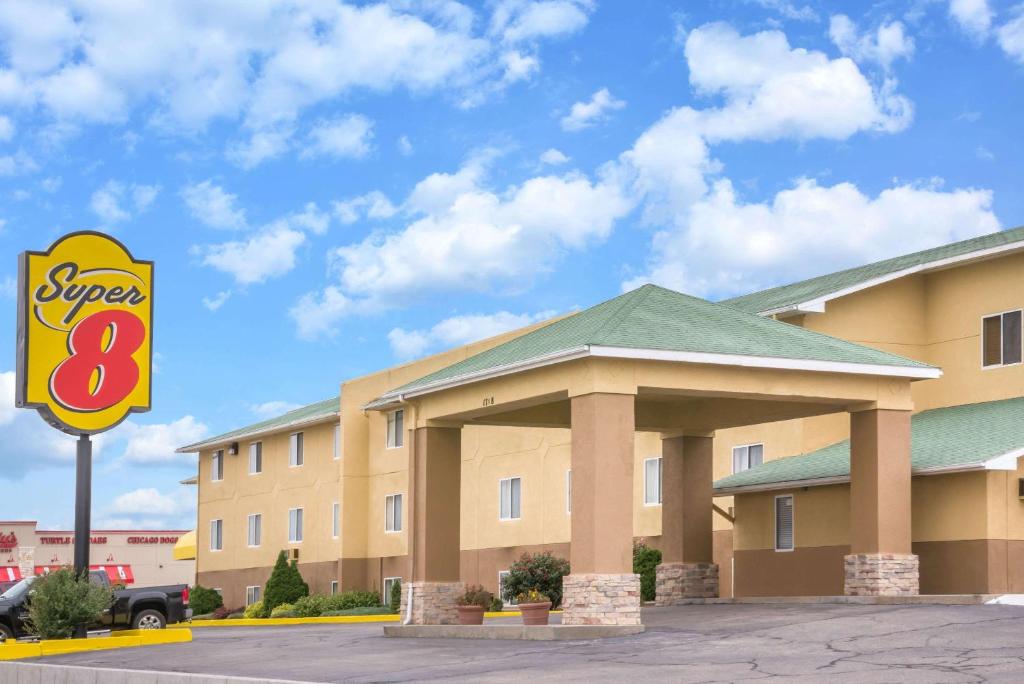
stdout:
{"type": "Polygon", "coordinates": [[[18,260],[18,407],[72,434],[150,410],[153,262],[73,232],[18,260]]]}

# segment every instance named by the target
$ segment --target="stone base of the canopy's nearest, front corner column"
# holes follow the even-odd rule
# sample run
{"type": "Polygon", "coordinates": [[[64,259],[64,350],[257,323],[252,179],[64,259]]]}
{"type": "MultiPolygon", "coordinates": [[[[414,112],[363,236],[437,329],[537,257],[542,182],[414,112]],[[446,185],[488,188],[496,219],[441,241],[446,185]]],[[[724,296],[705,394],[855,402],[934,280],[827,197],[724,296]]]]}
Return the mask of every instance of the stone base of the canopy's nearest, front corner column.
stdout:
{"type": "Polygon", "coordinates": [[[562,625],[640,625],[640,575],[562,578],[562,625]]]}

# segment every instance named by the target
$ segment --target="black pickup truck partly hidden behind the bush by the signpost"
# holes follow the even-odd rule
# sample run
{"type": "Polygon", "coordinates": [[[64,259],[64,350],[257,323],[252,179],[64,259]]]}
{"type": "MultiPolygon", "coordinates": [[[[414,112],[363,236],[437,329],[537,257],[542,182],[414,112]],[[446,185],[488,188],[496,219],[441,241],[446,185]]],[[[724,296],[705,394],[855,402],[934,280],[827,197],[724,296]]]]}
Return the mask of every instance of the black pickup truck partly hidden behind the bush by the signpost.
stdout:
{"type": "MultiPolygon", "coordinates": [[[[0,595],[0,633],[8,639],[29,634],[25,621],[29,615],[34,580],[26,578],[0,595]]],[[[89,581],[111,586],[106,573],[98,570],[89,572],[89,581]]],[[[180,623],[189,617],[187,585],[116,589],[114,603],[103,611],[96,627],[162,630],[168,623],[180,623]]]]}

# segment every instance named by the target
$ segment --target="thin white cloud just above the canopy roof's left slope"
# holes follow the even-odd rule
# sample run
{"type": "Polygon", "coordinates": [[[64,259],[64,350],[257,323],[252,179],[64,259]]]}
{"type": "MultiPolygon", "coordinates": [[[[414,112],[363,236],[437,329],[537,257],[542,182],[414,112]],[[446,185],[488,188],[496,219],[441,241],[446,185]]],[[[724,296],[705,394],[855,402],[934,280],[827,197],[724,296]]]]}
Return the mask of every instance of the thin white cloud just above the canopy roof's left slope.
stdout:
{"type": "Polygon", "coordinates": [[[540,313],[477,313],[445,318],[427,330],[394,328],[387,339],[391,350],[399,358],[421,356],[434,348],[457,347],[477,340],[494,337],[510,330],[524,328],[539,320],[550,318],[554,311],[540,313]]]}

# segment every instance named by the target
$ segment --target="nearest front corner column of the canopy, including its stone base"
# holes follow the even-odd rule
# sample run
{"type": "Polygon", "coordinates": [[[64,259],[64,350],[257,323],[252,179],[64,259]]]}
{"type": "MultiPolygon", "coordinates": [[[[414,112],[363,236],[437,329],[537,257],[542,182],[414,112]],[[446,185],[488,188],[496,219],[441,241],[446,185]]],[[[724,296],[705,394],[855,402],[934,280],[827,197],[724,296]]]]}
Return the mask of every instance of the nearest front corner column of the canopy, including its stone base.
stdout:
{"type": "Polygon", "coordinates": [[[570,572],[562,583],[563,625],[639,625],[640,575],[633,572],[632,394],[571,398],[570,572]]]}

